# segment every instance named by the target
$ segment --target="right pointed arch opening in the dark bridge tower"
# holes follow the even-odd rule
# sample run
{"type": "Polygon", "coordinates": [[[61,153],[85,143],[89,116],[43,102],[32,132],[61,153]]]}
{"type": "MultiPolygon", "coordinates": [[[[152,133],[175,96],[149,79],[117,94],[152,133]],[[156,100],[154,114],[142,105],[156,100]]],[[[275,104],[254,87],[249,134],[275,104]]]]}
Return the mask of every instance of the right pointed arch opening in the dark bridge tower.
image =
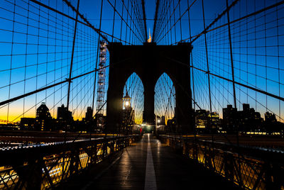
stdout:
{"type": "Polygon", "coordinates": [[[175,86],[165,72],[155,84],[155,108],[157,129],[175,122],[175,86]]]}

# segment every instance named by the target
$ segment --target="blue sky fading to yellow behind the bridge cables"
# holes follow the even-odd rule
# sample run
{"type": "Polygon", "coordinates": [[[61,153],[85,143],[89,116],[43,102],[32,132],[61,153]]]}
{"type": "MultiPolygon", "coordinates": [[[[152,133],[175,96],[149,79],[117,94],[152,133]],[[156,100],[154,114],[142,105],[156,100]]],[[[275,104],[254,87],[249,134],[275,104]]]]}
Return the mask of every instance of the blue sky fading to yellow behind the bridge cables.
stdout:
{"type": "MultiPolygon", "coordinates": [[[[110,0],[109,0],[110,1],[110,0]]],[[[66,4],[58,1],[41,1],[58,11],[75,18],[76,14],[66,4]]],[[[77,1],[70,1],[77,6],[77,1]]],[[[114,0],[110,1],[114,4],[114,0]]],[[[122,1],[116,0],[116,9],[122,15],[122,1]]],[[[126,0],[124,1],[127,2],[126,0]]],[[[163,2],[163,1],[161,1],[163,2]]],[[[174,1],[175,5],[178,1],[174,1]]],[[[193,0],[189,3],[192,4],[193,0]]],[[[231,21],[271,6],[278,1],[240,0],[230,11],[231,21]]],[[[231,1],[229,1],[231,4],[231,1]]],[[[88,18],[94,27],[99,28],[101,1],[80,1],[80,13],[88,18]]],[[[127,5],[126,5],[127,6],[127,5]]],[[[75,22],[58,13],[33,4],[28,0],[7,0],[0,2],[0,101],[4,101],[23,93],[55,84],[69,77],[72,55],[72,39],[75,22]],[[15,5],[13,3],[16,3],[15,5]],[[12,45],[13,44],[13,45],[12,45]],[[11,56],[12,55],[12,56],[11,56]]],[[[226,1],[204,0],[205,26],[208,26],[218,13],[226,8],[226,1]]],[[[180,12],[187,9],[187,0],[180,1],[180,12]]],[[[234,60],[234,76],[236,82],[268,91],[277,96],[284,96],[284,13],[283,5],[250,16],[231,24],[232,49],[234,60]],[[278,18],[278,19],[277,19],[278,18]]],[[[153,18],[155,1],[146,0],[147,33],[153,35],[153,18]]],[[[124,19],[127,19],[124,9],[124,19]]],[[[102,31],[111,34],[114,24],[114,36],[130,43],[141,44],[140,41],[126,35],[126,24],[114,11],[107,0],[104,0],[102,12],[102,31]]],[[[175,20],[179,12],[175,13],[175,20]]],[[[202,1],[196,1],[190,8],[191,33],[200,34],[203,30],[202,1]]],[[[80,21],[82,21],[80,19],[80,21]]],[[[170,21],[173,24],[172,21],[170,21]]],[[[212,28],[227,22],[223,16],[212,28]]],[[[128,22],[131,25],[131,21],[128,22]]],[[[187,13],[180,23],[165,35],[159,44],[171,44],[189,38],[187,13]],[[175,32],[174,32],[175,29],[175,32]],[[175,35],[176,34],[176,35],[175,35]],[[182,36],[181,36],[182,34],[182,36]],[[172,38],[172,40],[170,40],[172,38]]],[[[170,26],[170,24],[168,25],[170,26]]],[[[133,30],[135,30],[133,27],[133,30]]],[[[166,29],[168,30],[168,29],[166,29]]],[[[134,36],[135,37],[135,36],[134,36]]],[[[108,39],[111,41],[110,37],[108,39]]],[[[98,35],[91,28],[78,23],[75,43],[75,54],[72,77],[92,71],[97,62],[98,35]]],[[[115,39],[114,39],[115,41],[115,39]]],[[[195,67],[207,71],[204,35],[195,40],[192,50],[192,63],[195,67]]],[[[222,27],[207,33],[209,70],[214,74],[231,79],[231,59],[229,51],[228,28],[222,27]]],[[[75,79],[71,83],[70,110],[75,118],[84,117],[87,106],[92,105],[94,73],[87,77],[75,79]]],[[[195,101],[202,108],[209,109],[207,74],[194,70],[195,101]]],[[[233,104],[232,85],[223,79],[211,77],[212,109],[222,113],[222,107],[233,104]]],[[[193,89],[193,86],[192,86],[193,89]]],[[[0,107],[0,119],[18,121],[22,116],[35,116],[35,109],[46,102],[50,112],[56,117],[56,107],[66,105],[67,84],[42,91],[38,94],[20,99],[9,105],[0,107]],[[23,114],[25,113],[25,114],[23,114]]],[[[165,96],[168,96],[167,94],[165,96]]],[[[96,99],[96,97],[95,97],[96,99]]],[[[269,96],[248,90],[236,85],[237,108],[249,103],[257,111],[272,111],[283,118],[284,103],[269,96]]],[[[222,116],[222,114],[221,114],[222,116]]],[[[278,117],[279,119],[279,117],[278,117]]]]}

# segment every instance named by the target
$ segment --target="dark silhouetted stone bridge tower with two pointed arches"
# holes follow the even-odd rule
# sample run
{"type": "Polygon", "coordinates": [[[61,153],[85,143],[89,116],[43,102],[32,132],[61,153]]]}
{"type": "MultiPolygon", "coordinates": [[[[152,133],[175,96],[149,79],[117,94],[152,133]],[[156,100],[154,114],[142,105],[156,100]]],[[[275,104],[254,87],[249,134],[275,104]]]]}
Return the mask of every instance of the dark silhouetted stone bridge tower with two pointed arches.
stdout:
{"type": "Polygon", "coordinates": [[[144,86],[143,122],[155,124],[154,95],[158,78],[166,73],[175,86],[176,121],[180,132],[193,131],[190,89],[190,43],[178,45],[122,45],[109,43],[109,89],[106,133],[119,132],[126,80],[136,72],[144,86]]]}

